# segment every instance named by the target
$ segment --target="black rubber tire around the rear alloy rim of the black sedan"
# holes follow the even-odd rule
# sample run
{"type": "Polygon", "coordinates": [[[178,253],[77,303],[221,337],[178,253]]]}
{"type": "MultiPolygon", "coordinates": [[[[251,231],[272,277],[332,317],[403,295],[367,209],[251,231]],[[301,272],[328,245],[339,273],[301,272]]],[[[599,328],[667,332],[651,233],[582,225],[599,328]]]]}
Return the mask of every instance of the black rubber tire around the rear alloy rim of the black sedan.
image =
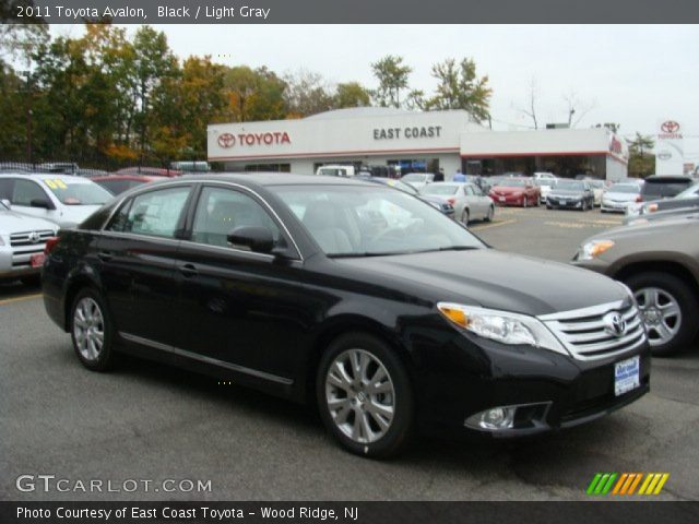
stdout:
{"type": "Polygon", "coordinates": [[[78,359],[87,369],[92,371],[107,371],[114,366],[116,361],[116,354],[114,350],[114,323],[105,301],[97,290],[91,287],[85,287],[75,295],[70,309],[70,335],[73,341],[73,349],[75,350],[78,359]],[[95,327],[97,330],[100,327],[103,333],[102,348],[97,352],[96,357],[93,358],[85,354],[86,352],[88,353],[90,349],[86,349],[85,352],[81,350],[78,341],[78,332],[83,329],[80,326],[76,327],[76,309],[79,305],[85,303],[85,301],[86,303],[91,303],[91,300],[92,303],[98,308],[99,315],[102,318],[102,321],[95,321],[95,327]]]}

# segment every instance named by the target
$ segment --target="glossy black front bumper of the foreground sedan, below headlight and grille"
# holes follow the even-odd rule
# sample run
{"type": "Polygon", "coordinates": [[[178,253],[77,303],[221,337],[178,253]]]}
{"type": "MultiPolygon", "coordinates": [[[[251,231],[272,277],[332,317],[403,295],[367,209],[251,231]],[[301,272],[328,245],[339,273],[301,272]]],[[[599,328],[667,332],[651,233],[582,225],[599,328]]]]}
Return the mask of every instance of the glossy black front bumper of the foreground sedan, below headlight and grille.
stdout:
{"type": "Polygon", "coordinates": [[[555,431],[605,416],[650,391],[648,343],[614,357],[577,360],[531,346],[505,346],[457,333],[423,360],[417,391],[420,428],[427,433],[512,438],[555,431]],[[639,356],[640,385],[615,395],[615,365],[639,356]],[[536,424],[472,429],[473,415],[500,406],[544,405],[536,424]]]}

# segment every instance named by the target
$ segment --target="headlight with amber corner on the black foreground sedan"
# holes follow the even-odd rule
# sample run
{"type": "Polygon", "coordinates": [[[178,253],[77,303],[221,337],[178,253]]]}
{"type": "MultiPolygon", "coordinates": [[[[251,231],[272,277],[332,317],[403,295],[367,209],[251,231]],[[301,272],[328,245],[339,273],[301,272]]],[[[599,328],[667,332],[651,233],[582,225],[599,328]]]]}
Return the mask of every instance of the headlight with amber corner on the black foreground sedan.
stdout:
{"type": "Polygon", "coordinates": [[[439,302],[437,309],[452,324],[484,338],[501,344],[526,344],[567,355],[554,334],[534,317],[451,302],[439,302]]]}

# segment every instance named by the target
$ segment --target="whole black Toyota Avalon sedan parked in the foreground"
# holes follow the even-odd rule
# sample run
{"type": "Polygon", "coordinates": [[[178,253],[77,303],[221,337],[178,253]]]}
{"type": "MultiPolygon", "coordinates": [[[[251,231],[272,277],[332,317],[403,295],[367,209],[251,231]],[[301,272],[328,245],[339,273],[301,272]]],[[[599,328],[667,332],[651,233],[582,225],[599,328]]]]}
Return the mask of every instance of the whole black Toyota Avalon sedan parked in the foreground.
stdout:
{"type": "Polygon", "coordinates": [[[318,404],[367,456],[415,432],[528,436],[649,391],[628,288],[498,252],[418,199],[280,174],[156,182],[47,245],[78,358],[119,352],[318,404]]]}

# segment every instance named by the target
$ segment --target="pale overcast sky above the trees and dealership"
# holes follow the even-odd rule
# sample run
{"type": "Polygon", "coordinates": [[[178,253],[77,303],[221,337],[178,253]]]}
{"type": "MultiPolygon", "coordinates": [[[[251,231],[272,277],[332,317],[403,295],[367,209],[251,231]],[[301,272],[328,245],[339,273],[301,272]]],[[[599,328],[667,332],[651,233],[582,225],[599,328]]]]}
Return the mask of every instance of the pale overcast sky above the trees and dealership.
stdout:
{"type": "MultiPolygon", "coordinates": [[[[138,26],[127,26],[134,32],[138,26]]],[[[411,88],[431,93],[431,66],[472,58],[493,88],[498,130],[532,127],[521,111],[532,84],[540,127],[568,120],[578,128],[620,123],[620,133],[655,134],[680,122],[686,157],[699,159],[699,25],[158,25],[180,58],[211,55],[227,66],[306,69],[330,84],[375,87],[371,62],[399,55],[413,68],[411,88]],[[696,145],[695,145],[696,144],[696,145]],[[696,153],[695,153],[696,150],[696,153]]],[[[80,36],[81,26],[52,26],[80,36]]],[[[688,158],[689,159],[689,158],[688,158]]]]}

